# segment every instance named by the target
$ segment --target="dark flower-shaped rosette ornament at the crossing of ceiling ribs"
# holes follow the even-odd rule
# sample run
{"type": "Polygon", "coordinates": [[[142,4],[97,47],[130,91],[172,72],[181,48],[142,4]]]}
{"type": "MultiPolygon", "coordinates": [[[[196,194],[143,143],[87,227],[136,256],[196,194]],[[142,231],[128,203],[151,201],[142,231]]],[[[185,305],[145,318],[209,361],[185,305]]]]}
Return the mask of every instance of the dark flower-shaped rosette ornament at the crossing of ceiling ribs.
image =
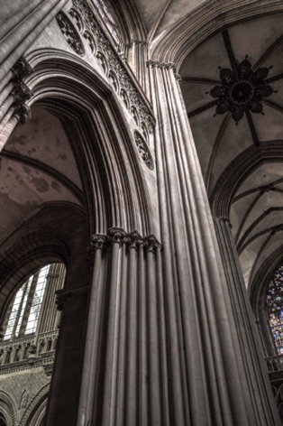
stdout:
{"type": "Polygon", "coordinates": [[[246,113],[262,114],[262,99],[277,93],[269,85],[269,68],[253,70],[246,55],[242,62],[234,62],[233,69],[219,67],[221,85],[206,94],[216,99],[215,116],[231,112],[236,125],[246,113]]]}

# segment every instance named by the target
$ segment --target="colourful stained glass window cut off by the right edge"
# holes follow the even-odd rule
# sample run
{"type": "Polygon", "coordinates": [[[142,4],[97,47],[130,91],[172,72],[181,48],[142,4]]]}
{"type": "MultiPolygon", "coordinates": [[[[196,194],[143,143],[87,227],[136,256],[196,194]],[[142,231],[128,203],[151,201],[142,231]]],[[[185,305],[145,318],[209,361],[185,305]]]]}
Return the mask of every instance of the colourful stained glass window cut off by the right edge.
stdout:
{"type": "Polygon", "coordinates": [[[269,328],[278,354],[283,354],[283,265],[281,265],[267,290],[269,328]]]}

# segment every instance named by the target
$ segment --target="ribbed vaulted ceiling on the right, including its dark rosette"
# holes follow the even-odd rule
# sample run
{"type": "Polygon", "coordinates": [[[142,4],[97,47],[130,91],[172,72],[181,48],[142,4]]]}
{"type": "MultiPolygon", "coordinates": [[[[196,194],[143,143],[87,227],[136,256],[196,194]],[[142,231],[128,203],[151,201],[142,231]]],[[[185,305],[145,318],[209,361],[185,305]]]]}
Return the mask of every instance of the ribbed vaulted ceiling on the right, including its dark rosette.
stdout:
{"type": "Polygon", "coordinates": [[[213,201],[223,182],[233,192],[230,221],[247,285],[282,246],[282,17],[216,33],[179,70],[208,195],[213,201]]]}

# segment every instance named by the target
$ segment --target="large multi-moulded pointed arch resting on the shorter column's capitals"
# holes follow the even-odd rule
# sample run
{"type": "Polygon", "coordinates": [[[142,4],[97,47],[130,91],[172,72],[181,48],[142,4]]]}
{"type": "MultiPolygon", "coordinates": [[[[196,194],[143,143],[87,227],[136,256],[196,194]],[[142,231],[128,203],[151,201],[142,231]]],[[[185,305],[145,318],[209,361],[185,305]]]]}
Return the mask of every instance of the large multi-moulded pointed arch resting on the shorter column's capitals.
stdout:
{"type": "Polygon", "coordinates": [[[70,143],[87,171],[90,233],[105,232],[113,225],[138,229],[144,235],[154,231],[146,171],[109,83],[66,52],[33,51],[27,60],[34,68],[26,79],[33,92],[30,106],[49,109],[71,129],[70,143]],[[80,139],[76,146],[71,133],[80,139]]]}

